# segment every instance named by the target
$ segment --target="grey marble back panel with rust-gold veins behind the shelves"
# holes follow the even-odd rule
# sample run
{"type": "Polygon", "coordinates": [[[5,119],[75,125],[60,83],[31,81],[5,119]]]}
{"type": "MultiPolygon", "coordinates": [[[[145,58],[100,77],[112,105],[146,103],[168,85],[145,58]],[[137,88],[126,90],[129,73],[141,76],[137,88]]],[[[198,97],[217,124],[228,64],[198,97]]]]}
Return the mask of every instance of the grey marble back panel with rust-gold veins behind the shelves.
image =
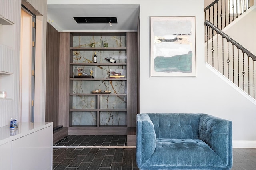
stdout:
{"type": "MultiPolygon", "coordinates": [[[[109,48],[126,47],[126,36],[74,36],[73,47],[92,48],[91,43],[95,43],[95,47],[104,47],[104,43],[108,43],[109,48]]],[[[93,63],[93,57],[96,52],[97,63],[109,63],[105,58],[112,57],[116,63],[126,63],[126,51],[73,51],[73,63],[93,63]]],[[[76,65],[74,65],[76,66],[76,65]]],[[[94,65],[94,79],[106,79],[110,76],[110,69],[124,69],[126,65],[94,65]]],[[[75,74],[73,69],[73,75],[75,74]]],[[[126,94],[127,83],[124,80],[74,80],[72,82],[72,92],[74,95],[72,100],[72,109],[126,109],[126,95],[104,95],[100,97],[97,103],[97,96],[91,96],[93,90],[101,89],[110,90],[111,93],[126,94]]],[[[100,125],[126,125],[126,111],[100,111],[100,125]]],[[[73,125],[97,125],[97,111],[73,111],[73,125]]]]}

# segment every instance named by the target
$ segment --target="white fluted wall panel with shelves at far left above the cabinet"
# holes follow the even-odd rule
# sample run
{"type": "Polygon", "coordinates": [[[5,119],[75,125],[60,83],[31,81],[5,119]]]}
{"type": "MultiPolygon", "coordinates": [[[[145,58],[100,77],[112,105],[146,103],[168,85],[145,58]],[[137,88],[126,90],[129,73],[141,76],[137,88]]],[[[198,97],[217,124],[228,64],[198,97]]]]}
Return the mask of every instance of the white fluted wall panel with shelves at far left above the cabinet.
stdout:
{"type": "Polygon", "coordinates": [[[1,75],[1,90],[7,89],[9,99],[0,101],[0,127],[18,117],[20,79],[20,11],[21,0],[0,1],[0,16],[12,25],[1,25],[1,69],[12,75],[1,75]],[[4,89],[2,89],[4,88],[4,89]]]}

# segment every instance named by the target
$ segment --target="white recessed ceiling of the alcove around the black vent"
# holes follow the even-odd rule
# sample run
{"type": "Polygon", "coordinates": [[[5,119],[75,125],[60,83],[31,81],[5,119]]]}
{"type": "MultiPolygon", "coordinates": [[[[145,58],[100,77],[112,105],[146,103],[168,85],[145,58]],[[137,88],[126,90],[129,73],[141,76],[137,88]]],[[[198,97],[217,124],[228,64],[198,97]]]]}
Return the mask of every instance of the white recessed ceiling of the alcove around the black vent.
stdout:
{"type": "Polygon", "coordinates": [[[47,20],[59,32],[137,31],[138,4],[48,4],[47,20]],[[73,17],[117,17],[117,24],[78,24],[73,17]]]}

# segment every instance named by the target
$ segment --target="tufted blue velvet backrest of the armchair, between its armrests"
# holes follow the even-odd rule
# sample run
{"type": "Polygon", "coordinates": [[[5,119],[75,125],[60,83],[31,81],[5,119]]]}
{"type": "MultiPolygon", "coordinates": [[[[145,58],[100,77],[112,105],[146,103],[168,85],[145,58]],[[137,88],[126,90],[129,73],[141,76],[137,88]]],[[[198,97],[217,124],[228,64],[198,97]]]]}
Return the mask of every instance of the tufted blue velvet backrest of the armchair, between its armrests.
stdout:
{"type": "Polygon", "coordinates": [[[200,117],[205,114],[148,113],[154,124],[156,138],[199,138],[200,117]]]}

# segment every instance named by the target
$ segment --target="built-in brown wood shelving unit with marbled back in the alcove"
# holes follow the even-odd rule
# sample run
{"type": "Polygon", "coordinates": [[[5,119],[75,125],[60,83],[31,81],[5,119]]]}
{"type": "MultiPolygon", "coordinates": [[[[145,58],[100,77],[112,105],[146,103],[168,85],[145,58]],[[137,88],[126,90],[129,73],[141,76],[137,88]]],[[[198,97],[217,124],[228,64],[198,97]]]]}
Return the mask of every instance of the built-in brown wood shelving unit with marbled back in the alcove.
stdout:
{"type": "Polygon", "coordinates": [[[68,134],[127,134],[128,127],[136,127],[138,113],[137,33],[75,32],[69,45],[68,134]],[[77,70],[92,72],[93,77],[80,78],[77,70]],[[124,77],[112,78],[113,70],[124,77]],[[92,93],[97,89],[110,93],[92,93]]]}

